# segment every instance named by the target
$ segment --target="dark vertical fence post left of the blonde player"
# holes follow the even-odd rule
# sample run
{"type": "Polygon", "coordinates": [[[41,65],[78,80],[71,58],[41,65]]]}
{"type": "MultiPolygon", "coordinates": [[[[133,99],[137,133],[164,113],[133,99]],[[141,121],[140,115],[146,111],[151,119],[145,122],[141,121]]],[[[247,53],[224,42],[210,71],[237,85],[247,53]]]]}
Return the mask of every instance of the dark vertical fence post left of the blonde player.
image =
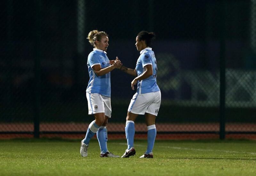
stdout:
{"type": "Polygon", "coordinates": [[[40,0],[35,0],[36,4],[36,30],[35,30],[35,63],[34,63],[34,138],[39,138],[39,119],[40,119],[40,0]]]}

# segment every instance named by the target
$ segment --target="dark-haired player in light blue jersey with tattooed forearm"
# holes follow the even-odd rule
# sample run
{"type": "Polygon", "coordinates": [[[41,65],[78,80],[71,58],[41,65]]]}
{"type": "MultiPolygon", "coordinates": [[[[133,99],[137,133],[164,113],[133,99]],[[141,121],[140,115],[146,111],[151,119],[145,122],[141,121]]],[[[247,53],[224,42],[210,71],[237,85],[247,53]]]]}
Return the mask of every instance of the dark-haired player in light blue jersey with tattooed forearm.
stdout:
{"type": "Polygon", "coordinates": [[[125,134],[128,148],[122,158],[135,155],[133,147],[134,121],[139,114],[145,114],[148,126],[148,147],[140,158],[153,158],[152,149],[156,138],[155,119],[161,104],[161,92],[156,84],[156,57],[152,48],[149,48],[151,39],[154,37],[155,34],[153,32],[141,31],[136,37],[135,44],[137,50],[140,51],[136,68],[131,69],[124,66],[119,68],[127,74],[136,76],[131,83],[132,90],[134,90],[134,85],[137,84],[137,92],[132,97],[127,112],[125,134]]]}

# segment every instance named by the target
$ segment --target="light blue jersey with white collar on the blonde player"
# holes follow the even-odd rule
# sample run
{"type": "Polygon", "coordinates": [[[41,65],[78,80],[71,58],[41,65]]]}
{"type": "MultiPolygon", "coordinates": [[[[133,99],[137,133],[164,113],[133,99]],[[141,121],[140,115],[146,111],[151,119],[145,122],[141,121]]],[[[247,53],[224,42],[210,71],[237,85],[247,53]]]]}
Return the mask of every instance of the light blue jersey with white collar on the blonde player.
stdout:
{"type": "Polygon", "coordinates": [[[99,93],[110,97],[110,72],[102,76],[97,76],[92,69],[94,65],[100,65],[101,68],[110,66],[107,52],[93,48],[93,51],[88,55],[87,66],[90,80],[86,92],[99,93]]]}

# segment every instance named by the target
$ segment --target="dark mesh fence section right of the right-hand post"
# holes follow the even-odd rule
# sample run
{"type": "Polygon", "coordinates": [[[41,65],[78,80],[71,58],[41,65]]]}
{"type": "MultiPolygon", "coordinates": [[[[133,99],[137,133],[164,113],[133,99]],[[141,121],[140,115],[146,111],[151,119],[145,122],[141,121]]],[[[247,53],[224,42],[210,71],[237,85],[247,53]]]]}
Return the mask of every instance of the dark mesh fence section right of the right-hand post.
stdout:
{"type": "Polygon", "coordinates": [[[226,8],[226,132],[255,134],[256,2],[226,8]]]}

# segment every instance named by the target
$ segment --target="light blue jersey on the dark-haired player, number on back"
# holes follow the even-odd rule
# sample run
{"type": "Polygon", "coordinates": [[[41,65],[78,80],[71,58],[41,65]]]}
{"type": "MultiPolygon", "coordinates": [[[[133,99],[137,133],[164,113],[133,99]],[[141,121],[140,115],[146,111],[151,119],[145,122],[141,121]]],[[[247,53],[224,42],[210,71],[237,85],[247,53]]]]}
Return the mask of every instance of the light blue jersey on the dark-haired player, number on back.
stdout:
{"type": "Polygon", "coordinates": [[[158,85],[156,84],[157,66],[156,57],[152,51],[152,48],[145,48],[144,50],[140,51],[140,57],[136,63],[136,72],[138,76],[145,72],[144,67],[148,64],[152,65],[153,75],[149,76],[147,79],[138,81],[137,93],[139,94],[160,91],[158,85]]]}

